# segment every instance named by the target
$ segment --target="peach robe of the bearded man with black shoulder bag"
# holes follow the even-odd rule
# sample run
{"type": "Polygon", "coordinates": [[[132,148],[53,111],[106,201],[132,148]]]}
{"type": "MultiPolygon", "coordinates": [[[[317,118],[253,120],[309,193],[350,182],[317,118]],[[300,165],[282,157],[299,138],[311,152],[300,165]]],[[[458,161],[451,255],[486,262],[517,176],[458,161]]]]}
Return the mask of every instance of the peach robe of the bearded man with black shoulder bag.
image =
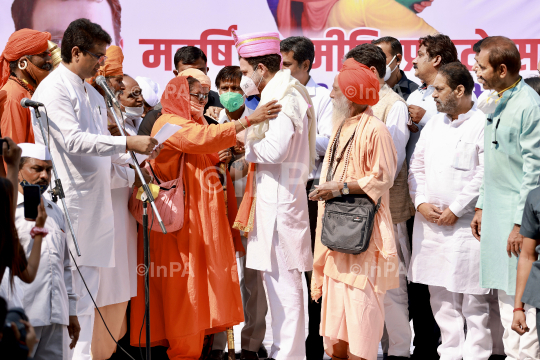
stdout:
{"type": "MultiPolygon", "coordinates": [[[[319,215],[315,235],[315,256],[311,294],[313,299],[322,295],[324,275],[358,289],[364,289],[371,283],[377,293],[399,286],[398,258],[394,241],[392,216],[390,215],[389,190],[394,184],[397,169],[397,154],[392,137],[382,121],[373,116],[368,108],[358,117],[347,120],[341,131],[338,154],[346,140],[353,134],[351,159],[344,181],[358,181],[363,191],[374,201],[381,199],[381,207],[375,215],[373,233],[367,251],[351,255],[331,251],[321,243],[322,215],[324,202],[319,202],[319,215]]],[[[334,141],[335,134],[330,139],[334,141]]],[[[328,147],[323,162],[321,183],[326,182],[329,153],[328,147]]],[[[343,172],[341,161],[334,180],[339,181],[343,172]]]]}

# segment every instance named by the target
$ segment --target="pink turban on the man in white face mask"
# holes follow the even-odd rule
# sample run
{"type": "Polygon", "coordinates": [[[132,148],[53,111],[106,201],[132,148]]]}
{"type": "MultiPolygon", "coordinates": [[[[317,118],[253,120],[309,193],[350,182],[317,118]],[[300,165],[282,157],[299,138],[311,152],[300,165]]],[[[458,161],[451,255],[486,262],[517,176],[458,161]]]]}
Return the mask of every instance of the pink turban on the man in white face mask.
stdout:
{"type": "Polygon", "coordinates": [[[237,36],[233,30],[232,34],[238,55],[243,58],[270,54],[281,56],[281,52],[279,51],[280,39],[278,33],[263,32],[237,36]]]}

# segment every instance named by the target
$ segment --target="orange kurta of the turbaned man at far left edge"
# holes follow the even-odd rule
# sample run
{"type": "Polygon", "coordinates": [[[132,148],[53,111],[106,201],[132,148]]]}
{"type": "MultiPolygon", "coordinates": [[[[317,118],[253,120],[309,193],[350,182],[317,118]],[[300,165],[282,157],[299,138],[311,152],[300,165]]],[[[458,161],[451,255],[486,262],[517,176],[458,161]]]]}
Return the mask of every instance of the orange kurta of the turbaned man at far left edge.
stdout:
{"type": "Polygon", "coordinates": [[[2,137],[10,137],[15,143],[34,143],[34,130],[30,109],[21,106],[23,98],[32,95],[18,84],[9,79],[0,89],[0,133],[2,137]]]}

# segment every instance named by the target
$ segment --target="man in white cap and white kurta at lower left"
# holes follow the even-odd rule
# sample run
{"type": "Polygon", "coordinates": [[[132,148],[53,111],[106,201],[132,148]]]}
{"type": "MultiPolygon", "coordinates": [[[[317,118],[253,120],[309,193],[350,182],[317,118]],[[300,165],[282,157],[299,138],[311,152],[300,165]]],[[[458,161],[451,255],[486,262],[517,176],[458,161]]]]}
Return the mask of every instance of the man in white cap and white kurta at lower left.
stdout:
{"type": "MultiPolygon", "coordinates": [[[[47,148],[38,144],[19,144],[22,149],[19,180],[30,184],[49,185],[52,163],[47,148]]],[[[30,324],[40,340],[32,354],[36,360],[68,359],[69,335],[72,344],[79,336],[77,321],[77,300],[72,284],[71,261],[66,233],[69,231],[64,213],[50,200],[43,199],[47,221],[45,228],[49,234],[43,238],[39,271],[33,282],[22,283],[22,306],[30,324]],[[69,327],[69,334],[68,334],[69,327]]],[[[34,240],[30,230],[34,221],[24,218],[23,187],[19,185],[15,225],[19,241],[29,257],[34,240]]]]}

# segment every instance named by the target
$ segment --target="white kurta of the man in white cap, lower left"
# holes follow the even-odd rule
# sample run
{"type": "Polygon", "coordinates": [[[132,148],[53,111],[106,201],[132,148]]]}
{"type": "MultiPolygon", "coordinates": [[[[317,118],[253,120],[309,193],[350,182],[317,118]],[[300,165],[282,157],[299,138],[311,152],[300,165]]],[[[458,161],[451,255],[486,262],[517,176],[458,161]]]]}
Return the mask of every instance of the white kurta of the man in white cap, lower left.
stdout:
{"type": "MultiPolygon", "coordinates": [[[[69,316],[77,315],[79,298],[73,289],[71,277],[71,258],[66,236],[69,230],[62,210],[52,201],[43,199],[43,202],[47,212],[45,228],[49,234],[41,244],[36,278],[30,284],[21,283],[22,303],[32,326],[69,325],[69,316]]],[[[15,225],[28,258],[34,245],[30,230],[36,222],[24,219],[24,196],[21,193],[17,197],[15,225]]]]}

